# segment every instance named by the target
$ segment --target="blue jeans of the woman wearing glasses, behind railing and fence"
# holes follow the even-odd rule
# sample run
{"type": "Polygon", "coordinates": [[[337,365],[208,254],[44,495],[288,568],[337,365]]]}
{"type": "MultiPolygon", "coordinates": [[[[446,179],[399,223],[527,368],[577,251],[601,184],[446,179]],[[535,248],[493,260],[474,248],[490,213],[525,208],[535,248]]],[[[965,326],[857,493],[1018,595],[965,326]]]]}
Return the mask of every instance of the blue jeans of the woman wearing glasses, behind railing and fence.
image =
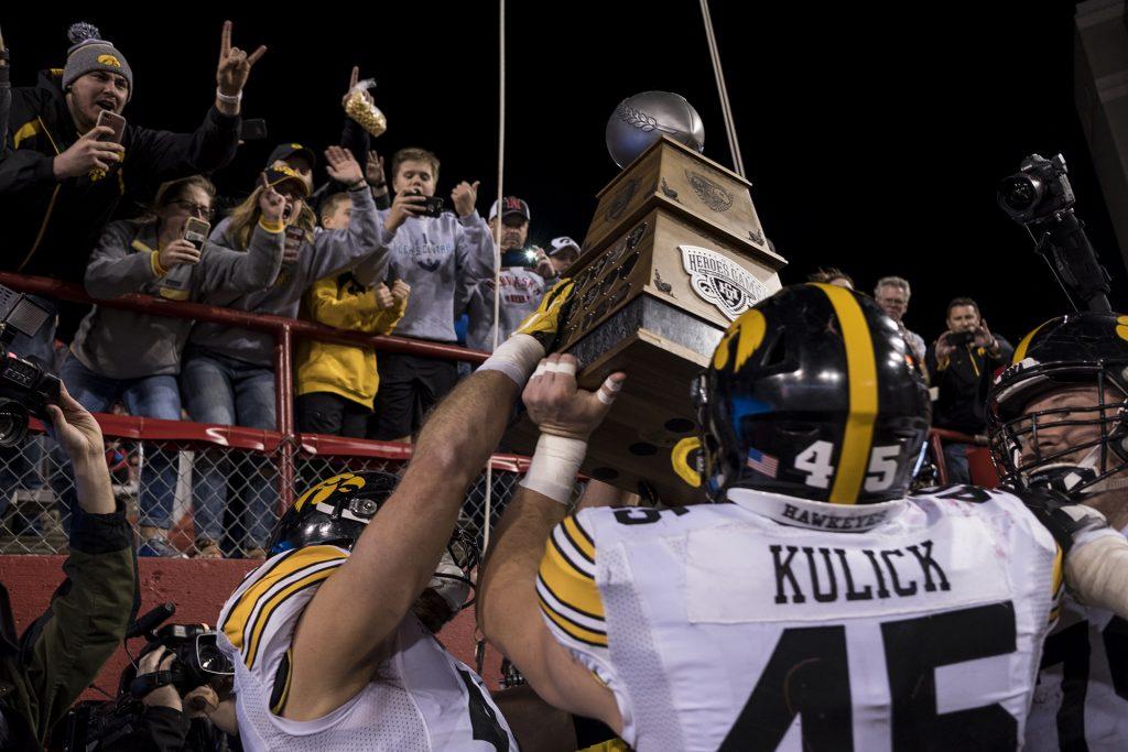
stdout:
{"type": "MultiPolygon", "coordinates": [[[[152,375],[140,379],[111,379],[82,365],[74,355],[67,357],[60,371],[71,397],[91,413],[105,413],[122,400],[130,415],[165,421],[180,419],[180,392],[174,375],[152,375]]],[[[139,524],[168,530],[173,527],[173,505],[176,497],[177,453],[153,451],[144,457],[141,466],[141,488],[138,506],[139,524]]],[[[63,462],[63,472],[71,479],[70,462],[63,462]]],[[[73,483],[71,483],[73,487],[73,483]]],[[[73,494],[73,490],[67,496],[73,494]]],[[[71,498],[64,498],[70,507],[71,498]]]]}

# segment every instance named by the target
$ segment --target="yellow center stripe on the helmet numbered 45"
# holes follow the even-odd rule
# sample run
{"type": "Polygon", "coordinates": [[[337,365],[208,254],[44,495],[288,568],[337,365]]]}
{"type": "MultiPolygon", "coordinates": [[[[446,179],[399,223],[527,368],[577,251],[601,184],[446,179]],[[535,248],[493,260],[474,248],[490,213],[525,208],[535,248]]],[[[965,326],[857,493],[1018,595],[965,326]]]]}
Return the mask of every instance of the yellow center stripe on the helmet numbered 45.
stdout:
{"type": "Polygon", "coordinates": [[[849,417],[843,432],[830,502],[853,504],[862,490],[873,445],[873,424],[878,417],[878,362],[870,326],[854,294],[832,284],[814,286],[827,294],[838,316],[849,386],[849,417]]]}

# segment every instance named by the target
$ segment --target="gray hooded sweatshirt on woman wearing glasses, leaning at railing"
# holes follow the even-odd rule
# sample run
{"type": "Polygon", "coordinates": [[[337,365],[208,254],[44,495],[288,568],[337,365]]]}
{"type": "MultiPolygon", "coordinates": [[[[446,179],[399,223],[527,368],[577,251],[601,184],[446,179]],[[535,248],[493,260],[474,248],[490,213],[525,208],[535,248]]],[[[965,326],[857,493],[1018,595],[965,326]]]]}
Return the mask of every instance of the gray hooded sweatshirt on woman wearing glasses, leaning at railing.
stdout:
{"type": "MultiPolygon", "coordinates": [[[[94,298],[131,292],[167,300],[233,299],[265,287],[282,266],[282,232],[262,225],[250,236],[247,251],[208,241],[195,264],[179,264],[164,276],[153,264],[157,222],[126,220],[103,230],[86,268],[86,291],[94,298]]],[[[111,379],[178,374],[180,353],[193,319],[166,318],[95,306],[79,326],[71,352],[86,368],[111,379]]]]}

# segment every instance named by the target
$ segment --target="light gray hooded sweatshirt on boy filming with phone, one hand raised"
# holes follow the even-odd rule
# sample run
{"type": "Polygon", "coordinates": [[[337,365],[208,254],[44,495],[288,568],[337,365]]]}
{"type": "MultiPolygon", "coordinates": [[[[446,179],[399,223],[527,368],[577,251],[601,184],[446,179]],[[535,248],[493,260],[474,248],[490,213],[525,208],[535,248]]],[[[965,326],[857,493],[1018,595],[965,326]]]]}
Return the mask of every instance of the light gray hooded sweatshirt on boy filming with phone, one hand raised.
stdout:
{"type": "Polygon", "coordinates": [[[385,216],[387,212],[380,212],[380,245],[391,251],[387,276],[412,286],[396,335],[455,342],[456,291],[493,278],[490,225],[477,212],[465,218],[444,212],[437,218],[413,216],[388,232],[385,216]]]}

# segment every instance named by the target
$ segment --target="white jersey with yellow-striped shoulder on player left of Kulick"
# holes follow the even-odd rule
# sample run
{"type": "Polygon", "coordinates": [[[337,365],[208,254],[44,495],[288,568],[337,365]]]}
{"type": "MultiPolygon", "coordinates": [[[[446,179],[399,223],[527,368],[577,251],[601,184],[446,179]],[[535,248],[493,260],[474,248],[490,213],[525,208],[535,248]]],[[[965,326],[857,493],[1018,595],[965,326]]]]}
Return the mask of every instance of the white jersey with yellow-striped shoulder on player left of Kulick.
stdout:
{"type": "Polygon", "coordinates": [[[243,747],[515,751],[517,741],[482,680],[414,616],[400,622],[391,657],[356,697],[317,720],[275,714],[289,691],[298,619],[320,583],[347,558],[349,551],[335,546],[279,554],[248,574],[223,605],[218,642],[235,663],[243,747]]]}

